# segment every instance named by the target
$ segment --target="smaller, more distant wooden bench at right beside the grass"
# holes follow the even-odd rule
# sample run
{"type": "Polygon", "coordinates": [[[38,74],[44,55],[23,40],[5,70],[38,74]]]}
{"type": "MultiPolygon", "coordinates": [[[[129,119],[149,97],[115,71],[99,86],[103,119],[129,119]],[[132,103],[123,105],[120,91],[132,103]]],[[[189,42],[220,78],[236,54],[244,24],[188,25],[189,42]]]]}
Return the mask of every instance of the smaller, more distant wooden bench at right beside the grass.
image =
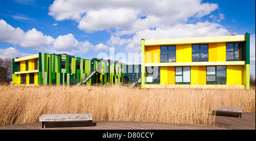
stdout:
{"type": "Polygon", "coordinates": [[[242,118],[242,108],[241,107],[212,107],[212,112],[215,115],[231,115],[238,116],[242,118]]]}

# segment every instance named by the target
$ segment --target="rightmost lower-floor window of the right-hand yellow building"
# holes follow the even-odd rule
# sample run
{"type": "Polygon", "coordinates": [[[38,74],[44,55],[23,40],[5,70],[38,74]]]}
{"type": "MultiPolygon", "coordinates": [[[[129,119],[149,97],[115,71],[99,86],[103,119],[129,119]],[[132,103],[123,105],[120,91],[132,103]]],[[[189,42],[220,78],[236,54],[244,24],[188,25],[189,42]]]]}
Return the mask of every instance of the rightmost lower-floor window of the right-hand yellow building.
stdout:
{"type": "Polygon", "coordinates": [[[207,84],[226,84],[226,66],[207,67],[207,84]]]}

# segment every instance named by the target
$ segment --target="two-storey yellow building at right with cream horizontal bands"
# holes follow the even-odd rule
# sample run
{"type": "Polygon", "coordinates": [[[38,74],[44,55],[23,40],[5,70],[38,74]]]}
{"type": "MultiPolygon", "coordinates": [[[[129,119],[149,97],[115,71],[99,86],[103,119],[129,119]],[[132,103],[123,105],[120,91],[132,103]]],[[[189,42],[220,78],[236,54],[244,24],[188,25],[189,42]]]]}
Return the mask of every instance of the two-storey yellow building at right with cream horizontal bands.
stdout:
{"type": "Polygon", "coordinates": [[[142,88],[250,86],[250,34],[142,39],[142,88]]]}

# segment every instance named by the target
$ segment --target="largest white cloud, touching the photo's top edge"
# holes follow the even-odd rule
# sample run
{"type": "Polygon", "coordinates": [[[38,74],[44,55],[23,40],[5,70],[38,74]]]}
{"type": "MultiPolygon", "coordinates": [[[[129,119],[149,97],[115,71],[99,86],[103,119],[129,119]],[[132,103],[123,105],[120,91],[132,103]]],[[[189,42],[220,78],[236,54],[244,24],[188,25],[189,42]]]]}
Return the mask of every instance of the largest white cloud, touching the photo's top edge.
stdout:
{"type": "Polygon", "coordinates": [[[148,28],[174,26],[188,18],[201,18],[218,8],[201,1],[75,1],[55,0],[49,15],[55,20],[72,19],[86,32],[109,31],[115,35],[135,34],[148,28]]]}

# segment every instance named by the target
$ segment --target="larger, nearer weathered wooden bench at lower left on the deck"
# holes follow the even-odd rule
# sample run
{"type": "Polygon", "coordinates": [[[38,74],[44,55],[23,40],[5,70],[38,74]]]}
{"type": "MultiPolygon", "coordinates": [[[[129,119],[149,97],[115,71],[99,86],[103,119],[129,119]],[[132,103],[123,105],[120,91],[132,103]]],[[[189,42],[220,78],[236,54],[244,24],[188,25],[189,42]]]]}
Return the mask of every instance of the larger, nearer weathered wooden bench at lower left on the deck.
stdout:
{"type": "Polygon", "coordinates": [[[90,114],[43,114],[39,117],[43,127],[73,127],[73,126],[91,126],[92,113],[90,114]]]}

